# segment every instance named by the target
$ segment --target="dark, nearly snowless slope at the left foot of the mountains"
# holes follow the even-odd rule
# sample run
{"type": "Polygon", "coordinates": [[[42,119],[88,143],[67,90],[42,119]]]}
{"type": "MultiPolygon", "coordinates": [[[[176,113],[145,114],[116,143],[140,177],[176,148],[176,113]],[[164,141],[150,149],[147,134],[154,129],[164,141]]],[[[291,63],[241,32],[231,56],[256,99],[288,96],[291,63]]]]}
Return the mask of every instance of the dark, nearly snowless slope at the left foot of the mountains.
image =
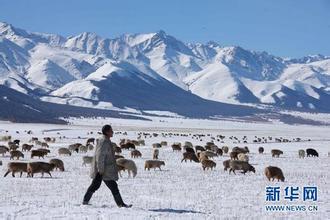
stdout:
{"type": "Polygon", "coordinates": [[[142,119],[139,116],[128,115],[125,112],[82,108],[70,105],[42,102],[37,98],[17,92],[0,85],[0,120],[13,122],[38,122],[65,124],[59,117],[116,117],[127,119],[142,119]]]}

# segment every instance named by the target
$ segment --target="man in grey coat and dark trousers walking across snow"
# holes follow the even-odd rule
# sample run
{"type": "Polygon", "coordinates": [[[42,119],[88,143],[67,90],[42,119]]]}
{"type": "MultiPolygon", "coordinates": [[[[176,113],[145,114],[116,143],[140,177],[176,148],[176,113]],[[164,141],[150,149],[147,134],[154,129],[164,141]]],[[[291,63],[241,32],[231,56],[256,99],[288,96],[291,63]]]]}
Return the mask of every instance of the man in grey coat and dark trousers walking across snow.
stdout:
{"type": "Polygon", "coordinates": [[[110,141],[110,138],[113,136],[111,126],[104,125],[102,127],[102,133],[102,138],[100,138],[96,144],[95,155],[92,162],[91,178],[93,181],[87,189],[83,204],[88,204],[93,193],[100,188],[103,180],[106,186],[111,190],[118,207],[130,208],[132,205],[126,205],[123,202],[116,182],[118,180],[118,170],[114,149],[110,141]]]}

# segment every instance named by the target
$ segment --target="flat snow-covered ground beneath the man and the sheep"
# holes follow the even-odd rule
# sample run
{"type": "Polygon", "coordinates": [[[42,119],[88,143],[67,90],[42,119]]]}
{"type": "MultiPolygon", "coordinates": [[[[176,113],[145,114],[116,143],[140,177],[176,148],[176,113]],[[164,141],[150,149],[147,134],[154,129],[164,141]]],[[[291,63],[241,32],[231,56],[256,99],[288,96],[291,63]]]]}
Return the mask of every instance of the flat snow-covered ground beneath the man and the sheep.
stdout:
{"type": "MultiPolygon", "coordinates": [[[[0,219],[329,219],[330,216],[330,127],[292,126],[279,123],[242,123],[229,121],[192,120],[183,118],[153,117],[152,121],[122,119],[70,119],[70,125],[15,124],[0,122],[0,136],[11,134],[14,139],[27,143],[31,137],[56,137],[50,144],[51,153],[42,161],[60,158],[65,163],[65,172],[54,171],[53,178],[13,178],[10,175],[0,177],[0,219]],[[82,157],[93,152],[74,153],[71,157],[59,156],[57,149],[72,143],[85,143],[87,137],[97,137],[95,133],[104,123],[111,123],[115,131],[127,131],[127,135],[116,134],[113,141],[121,138],[136,139],[138,132],[182,133],[188,136],[146,138],[146,146],[138,146],[142,158],[133,159],[138,167],[135,178],[127,173],[118,181],[119,189],[131,209],[116,207],[110,191],[102,184],[91,199],[90,206],[82,206],[82,197],[89,186],[89,167],[82,166],[82,157]],[[6,130],[8,133],[6,133],[6,130]],[[24,130],[32,130],[28,135],[24,130]],[[19,133],[16,133],[19,131],[19,133]],[[94,134],[87,132],[94,131],[94,134]],[[193,139],[190,134],[202,133],[202,140],[193,139]],[[203,171],[201,164],[183,162],[182,153],[172,152],[173,142],[191,141],[205,145],[211,136],[225,135],[225,143],[215,141],[218,146],[248,146],[250,163],[256,173],[237,175],[223,170],[222,161],[228,155],[217,157],[213,171],[203,171]],[[233,143],[230,136],[241,139],[248,137],[248,143],[233,143]],[[59,139],[59,136],[66,138],[59,139]],[[78,136],[80,138],[78,138],[78,136]],[[293,139],[300,137],[311,141],[290,143],[253,143],[254,136],[272,136],[293,139]],[[144,171],[144,161],[152,158],[152,143],[166,140],[167,147],[160,149],[160,159],[166,165],[162,171],[144,171]],[[264,154],[258,154],[258,148],[265,148],[264,154]],[[298,158],[298,149],[315,148],[319,158],[298,158]],[[270,150],[278,148],[284,151],[280,158],[272,158],[270,150]],[[264,168],[273,165],[282,168],[285,182],[268,182],[264,168]],[[291,205],[317,205],[317,211],[265,211],[265,205],[273,204],[265,200],[266,186],[317,186],[318,199],[307,202],[299,199],[289,202],[291,205]]],[[[0,142],[0,145],[6,144],[0,142]]],[[[130,158],[129,151],[123,156],[130,158]]],[[[3,165],[1,175],[6,171],[9,154],[0,156],[3,165]]],[[[31,161],[30,153],[25,153],[21,161],[31,161]]],[[[39,161],[33,159],[33,161],[39,161]]],[[[282,197],[282,195],[281,195],[282,197]]],[[[287,204],[283,198],[275,204],[287,204]]]]}

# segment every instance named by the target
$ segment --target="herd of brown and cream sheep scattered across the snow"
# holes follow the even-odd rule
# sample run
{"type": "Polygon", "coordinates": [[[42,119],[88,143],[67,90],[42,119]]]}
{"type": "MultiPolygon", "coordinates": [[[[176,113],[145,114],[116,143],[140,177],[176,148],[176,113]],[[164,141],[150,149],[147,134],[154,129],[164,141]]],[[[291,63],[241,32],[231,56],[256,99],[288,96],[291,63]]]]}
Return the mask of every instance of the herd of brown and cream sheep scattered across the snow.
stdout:
{"type": "MultiPolygon", "coordinates": [[[[25,131],[28,134],[32,134],[32,131],[25,131]]],[[[89,135],[92,132],[88,133],[89,135]]],[[[118,132],[120,135],[127,135],[126,132],[118,132]]],[[[157,137],[162,135],[163,138],[173,137],[173,136],[183,136],[192,139],[196,139],[202,142],[205,136],[209,136],[211,141],[206,142],[204,145],[193,145],[190,141],[185,141],[183,143],[175,142],[171,145],[168,144],[167,141],[161,141],[159,143],[154,143],[150,146],[150,151],[152,151],[152,158],[145,160],[144,169],[159,169],[161,170],[162,166],[165,166],[165,161],[159,160],[160,152],[163,148],[171,147],[173,153],[179,152],[182,153],[182,162],[195,162],[200,163],[201,167],[204,171],[213,170],[216,168],[217,163],[215,162],[215,157],[221,157],[227,155],[230,159],[223,161],[224,171],[229,170],[229,174],[235,171],[241,171],[241,173],[245,174],[247,172],[256,172],[255,167],[249,163],[249,153],[250,150],[248,147],[230,147],[222,146],[219,147],[214,144],[215,141],[219,143],[224,143],[224,139],[226,138],[223,135],[204,135],[204,134],[179,134],[179,133],[138,133],[138,136],[135,140],[132,139],[121,139],[118,144],[112,143],[114,151],[116,153],[116,162],[118,167],[119,175],[121,176],[122,171],[128,171],[129,176],[135,177],[137,175],[137,166],[134,162],[136,158],[141,158],[142,153],[139,150],[140,146],[145,146],[145,140],[152,137],[157,137]],[[122,154],[123,151],[130,151],[130,159],[125,158],[122,154]]],[[[60,137],[65,138],[65,137],[60,137]]],[[[233,143],[247,143],[247,137],[244,136],[242,139],[231,136],[229,137],[233,143]]],[[[83,139],[81,139],[83,140],[83,139]]],[[[272,137],[255,137],[252,143],[266,143],[272,141],[272,137]]],[[[10,155],[10,160],[19,161],[21,158],[24,158],[27,153],[30,154],[31,158],[39,158],[45,159],[45,157],[51,152],[49,149],[49,145],[56,143],[56,138],[53,137],[32,137],[29,143],[22,144],[19,139],[13,139],[11,136],[6,135],[0,137],[0,155],[5,156],[6,154],[10,155]],[[20,150],[21,149],[21,150],[20,150]]],[[[283,139],[283,138],[275,138],[275,142],[290,142],[301,141],[300,138],[296,138],[293,140],[283,139]]],[[[88,151],[93,151],[95,144],[97,144],[97,139],[88,138],[85,139],[84,143],[73,143],[67,147],[60,147],[57,149],[58,157],[68,157],[74,153],[87,153],[88,151]]],[[[264,154],[264,148],[259,147],[259,154],[264,154]]],[[[271,150],[272,157],[280,157],[283,154],[283,151],[279,149],[271,150]]],[[[319,154],[315,149],[308,148],[306,150],[300,149],[298,151],[298,157],[304,158],[307,157],[318,157],[319,154]]],[[[82,165],[86,166],[91,164],[93,161],[93,157],[91,156],[83,156],[82,157],[82,165]]],[[[0,165],[2,162],[0,160],[0,165]]],[[[36,173],[41,173],[43,176],[44,173],[51,176],[51,171],[55,169],[59,169],[60,171],[64,171],[64,162],[59,158],[52,158],[48,162],[46,161],[38,161],[38,162],[9,162],[7,164],[8,170],[5,173],[5,177],[11,173],[13,177],[15,177],[15,173],[20,173],[22,176],[23,173],[27,173],[27,177],[33,177],[36,173]]],[[[264,174],[269,181],[278,180],[284,181],[285,177],[282,170],[279,167],[268,166],[264,169],[264,174]]]]}

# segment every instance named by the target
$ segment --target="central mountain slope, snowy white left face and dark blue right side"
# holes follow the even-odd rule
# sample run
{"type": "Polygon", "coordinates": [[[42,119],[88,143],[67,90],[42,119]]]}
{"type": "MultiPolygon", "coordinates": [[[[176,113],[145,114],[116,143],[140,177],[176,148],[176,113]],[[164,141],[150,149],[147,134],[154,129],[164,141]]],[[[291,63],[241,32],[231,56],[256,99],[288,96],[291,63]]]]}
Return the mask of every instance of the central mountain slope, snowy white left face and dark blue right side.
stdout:
{"type": "Polygon", "coordinates": [[[145,68],[141,72],[125,62],[107,63],[85,79],[68,83],[50,95],[44,100],[61,98],[69,104],[87,106],[111,103],[110,107],[170,111],[187,117],[248,116],[263,112],[202,99],[173,85],[151,69],[145,68]]]}

